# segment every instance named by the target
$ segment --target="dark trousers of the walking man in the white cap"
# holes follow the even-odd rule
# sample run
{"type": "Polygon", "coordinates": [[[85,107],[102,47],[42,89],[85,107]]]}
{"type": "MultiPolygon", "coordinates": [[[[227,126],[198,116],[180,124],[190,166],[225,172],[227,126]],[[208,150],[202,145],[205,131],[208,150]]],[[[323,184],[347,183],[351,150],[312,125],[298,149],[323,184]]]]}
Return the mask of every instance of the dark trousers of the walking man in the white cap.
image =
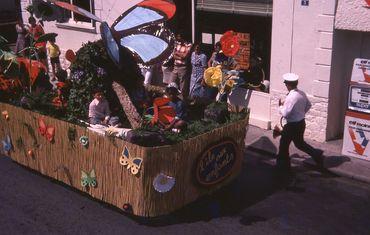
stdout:
{"type": "Polygon", "coordinates": [[[292,141],[299,150],[310,155],[315,161],[320,157],[320,151],[304,141],[305,129],[306,122],[304,119],[299,122],[285,124],[281,133],[279,153],[277,156],[277,166],[279,168],[290,170],[289,145],[292,141]]]}

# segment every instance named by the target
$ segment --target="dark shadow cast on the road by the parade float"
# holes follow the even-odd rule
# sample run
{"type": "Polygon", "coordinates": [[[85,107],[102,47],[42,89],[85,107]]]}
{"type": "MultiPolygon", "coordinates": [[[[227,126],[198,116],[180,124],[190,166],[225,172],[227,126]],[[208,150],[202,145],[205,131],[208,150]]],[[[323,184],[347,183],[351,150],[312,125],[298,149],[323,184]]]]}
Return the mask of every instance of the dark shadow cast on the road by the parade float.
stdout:
{"type": "MultiPolygon", "coordinates": [[[[279,190],[305,191],[298,186],[298,182],[294,183],[294,177],[280,179],[277,178],[272,165],[260,161],[255,153],[247,151],[241,174],[228,186],[167,216],[152,219],[131,218],[140,224],[154,227],[210,221],[218,217],[240,215],[246,208],[279,190]]],[[[267,220],[258,215],[241,216],[240,223],[246,226],[267,220]]]]}

